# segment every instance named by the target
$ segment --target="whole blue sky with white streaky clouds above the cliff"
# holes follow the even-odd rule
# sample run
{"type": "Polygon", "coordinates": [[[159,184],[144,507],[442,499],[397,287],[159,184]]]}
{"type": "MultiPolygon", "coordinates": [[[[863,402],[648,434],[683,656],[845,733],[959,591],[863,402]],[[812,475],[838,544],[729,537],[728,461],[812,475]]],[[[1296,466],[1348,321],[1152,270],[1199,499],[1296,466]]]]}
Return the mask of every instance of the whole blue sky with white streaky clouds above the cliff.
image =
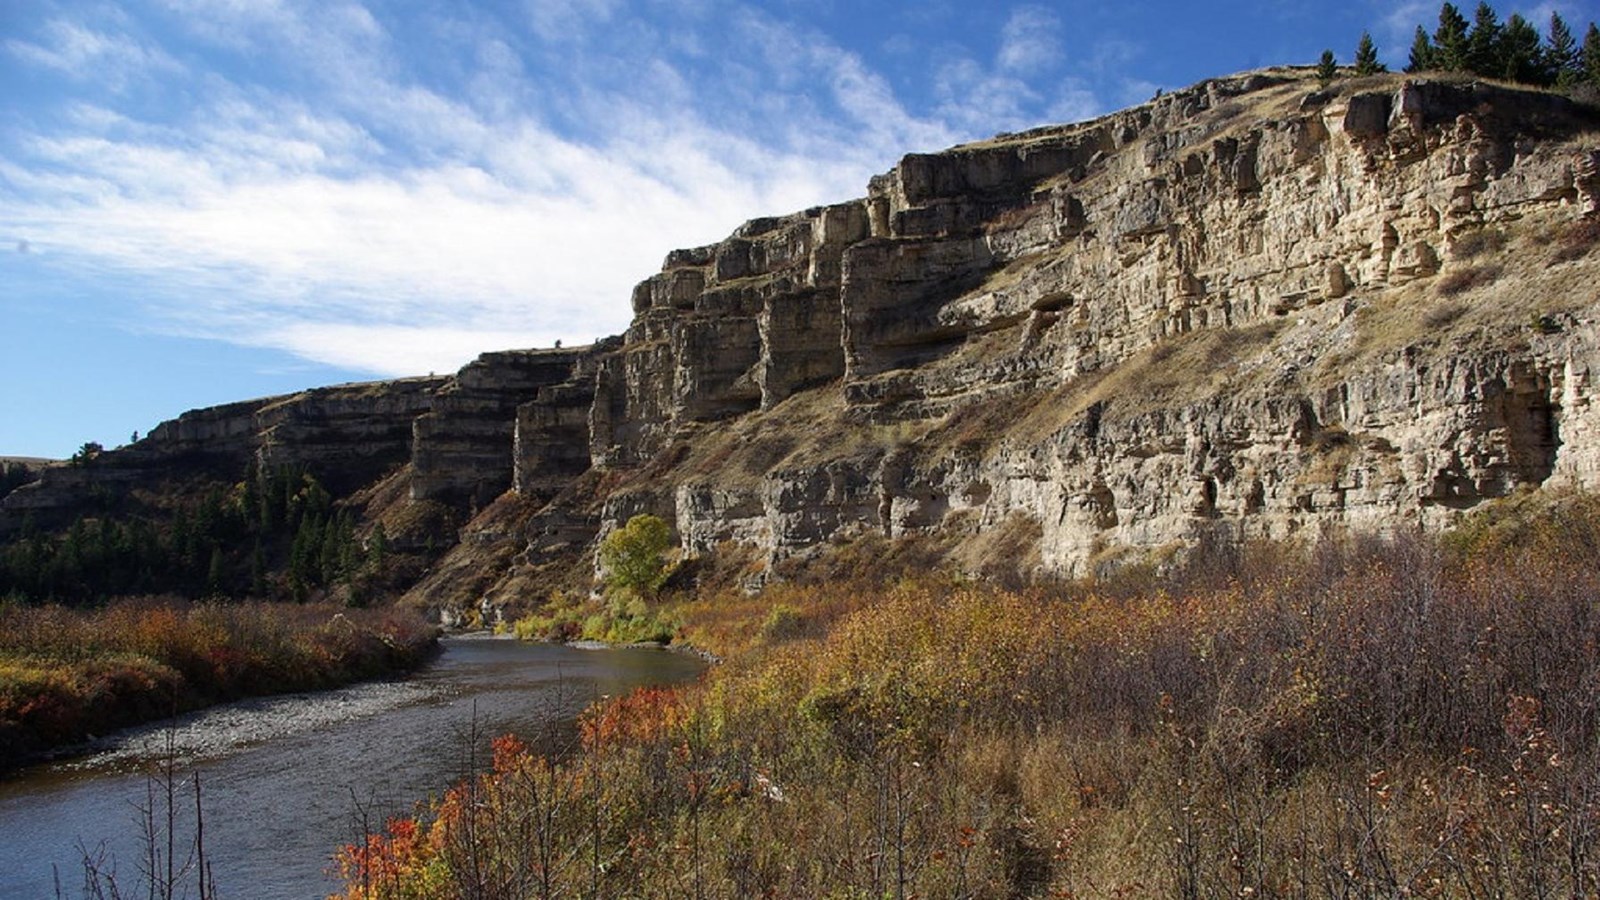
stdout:
{"type": "MultiPolygon", "coordinates": [[[[1539,22],[1594,0],[1496,6],[1539,22]]],[[[0,0],[0,455],[621,331],[675,247],[1379,0],[0,0]]]]}

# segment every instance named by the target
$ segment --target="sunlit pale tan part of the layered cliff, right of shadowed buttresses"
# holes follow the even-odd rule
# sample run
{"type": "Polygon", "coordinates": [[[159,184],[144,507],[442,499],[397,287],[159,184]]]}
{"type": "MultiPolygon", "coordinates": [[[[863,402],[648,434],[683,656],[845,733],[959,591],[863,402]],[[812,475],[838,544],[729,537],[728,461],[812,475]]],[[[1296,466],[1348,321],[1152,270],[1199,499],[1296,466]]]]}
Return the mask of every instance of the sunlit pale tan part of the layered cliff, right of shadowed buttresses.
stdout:
{"type": "Polygon", "coordinates": [[[781,559],[1022,519],[1083,572],[1594,487],[1594,261],[1549,240],[1594,215],[1595,147],[1550,94],[1267,72],[906,157],[840,255],[830,412],[752,405],[603,527],[654,511],[690,552],[781,559]]]}

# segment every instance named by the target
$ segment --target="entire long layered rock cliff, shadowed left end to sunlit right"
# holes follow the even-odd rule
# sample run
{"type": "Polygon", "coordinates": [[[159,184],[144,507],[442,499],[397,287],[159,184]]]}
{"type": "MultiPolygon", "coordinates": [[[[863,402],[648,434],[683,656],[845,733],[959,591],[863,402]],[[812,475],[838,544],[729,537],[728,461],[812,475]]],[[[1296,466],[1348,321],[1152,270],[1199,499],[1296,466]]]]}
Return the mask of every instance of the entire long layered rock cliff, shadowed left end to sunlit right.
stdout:
{"type": "MultiPolygon", "coordinates": [[[[691,554],[923,535],[1050,573],[1434,528],[1600,487],[1597,173],[1597,115],[1558,96],[1221,78],[674,251],[624,336],[189,413],[106,471],[410,461],[413,501],[518,544],[490,593],[637,512],[691,554]]],[[[5,514],[83,488],[45,482],[5,514]]]]}

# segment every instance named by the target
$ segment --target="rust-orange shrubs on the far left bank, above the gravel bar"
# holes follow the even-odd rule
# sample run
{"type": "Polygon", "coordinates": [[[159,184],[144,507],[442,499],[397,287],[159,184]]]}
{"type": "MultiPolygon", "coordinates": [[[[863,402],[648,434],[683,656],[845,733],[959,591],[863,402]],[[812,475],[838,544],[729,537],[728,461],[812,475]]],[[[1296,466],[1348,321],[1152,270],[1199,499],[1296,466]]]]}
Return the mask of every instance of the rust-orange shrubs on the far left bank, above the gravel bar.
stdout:
{"type": "Polygon", "coordinates": [[[0,605],[0,772],[115,729],[408,673],[438,629],[402,610],[122,601],[0,605]]]}

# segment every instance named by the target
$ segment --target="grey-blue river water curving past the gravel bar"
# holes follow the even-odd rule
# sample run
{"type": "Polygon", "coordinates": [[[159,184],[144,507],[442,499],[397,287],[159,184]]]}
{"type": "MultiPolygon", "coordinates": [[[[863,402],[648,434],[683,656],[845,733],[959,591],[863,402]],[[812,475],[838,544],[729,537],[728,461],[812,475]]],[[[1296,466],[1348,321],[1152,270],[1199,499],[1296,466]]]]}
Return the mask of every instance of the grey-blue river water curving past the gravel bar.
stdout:
{"type": "MultiPolygon", "coordinates": [[[[200,772],[206,862],[224,898],[326,897],[339,886],[331,854],[355,839],[363,814],[376,828],[413,812],[482,764],[493,735],[533,740],[598,697],[701,668],[662,650],[459,637],[408,681],[234,703],[125,732],[90,756],[0,780],[0,898],[50,900],[58,876],[62,897],[82,897],[85,852],[114,858],[133,895],[146,850],[139,810],[168,746],[179,761],[182,833],[194,820],[190,773],[200,772]]],[[[155,807],[165,822],[165,799],[155,807]]]]}

